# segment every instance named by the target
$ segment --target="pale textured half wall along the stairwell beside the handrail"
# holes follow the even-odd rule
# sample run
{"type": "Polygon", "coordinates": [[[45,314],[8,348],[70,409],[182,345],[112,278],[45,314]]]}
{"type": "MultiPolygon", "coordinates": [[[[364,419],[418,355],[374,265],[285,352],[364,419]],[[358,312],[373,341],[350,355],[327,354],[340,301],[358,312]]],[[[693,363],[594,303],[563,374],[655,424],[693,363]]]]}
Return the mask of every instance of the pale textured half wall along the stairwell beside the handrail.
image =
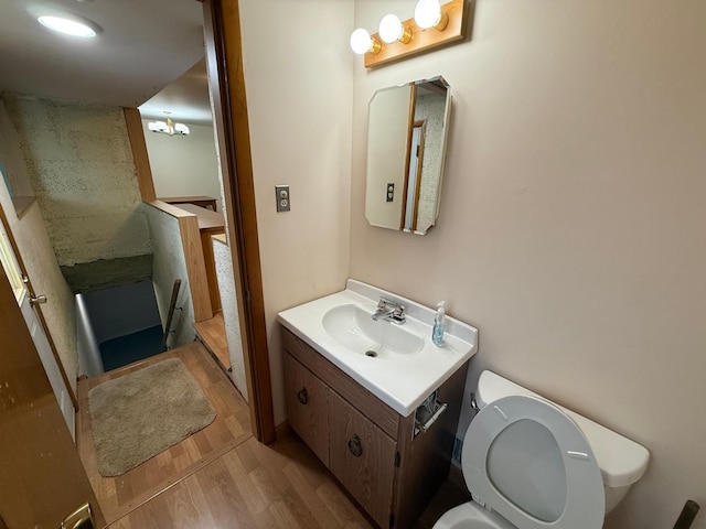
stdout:
{"type": "Polygon", "coordinates": [[[174,311],[174,320],[171,325],[174,333],[169,335],[167,342],[170,348],[174,348],[193,342],[195,336],[192,326],[194,323],[194,306],[191,301],[184,247],[179,231],[179,219],[150,205],[146,205],[145,210],[154,245],[152,283],[154,284],[154,296],[157,298],[162,326],[167,325],[169,302],[172,298],[174,280],[181,279],[176,306],[182,307],[182,310],[174,311]]]}

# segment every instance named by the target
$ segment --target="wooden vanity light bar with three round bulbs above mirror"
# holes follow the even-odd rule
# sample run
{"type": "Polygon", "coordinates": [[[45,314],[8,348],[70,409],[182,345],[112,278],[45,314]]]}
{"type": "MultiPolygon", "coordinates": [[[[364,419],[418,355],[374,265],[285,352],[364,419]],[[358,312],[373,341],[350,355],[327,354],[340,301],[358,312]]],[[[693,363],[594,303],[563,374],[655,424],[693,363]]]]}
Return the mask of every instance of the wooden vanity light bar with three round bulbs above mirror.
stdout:
{"type": "Polygon", "coordinates": [[[468,25],[467,3],[472,2],[450,0],[441,4],[439,0],[418,0],[414,18],[402,21],[387,14],[381,20],[378,33],[371,35],[362,28],[355,30],[351,47],[364,54],[364,64],[371,68],[462,41],[468,25]]]}

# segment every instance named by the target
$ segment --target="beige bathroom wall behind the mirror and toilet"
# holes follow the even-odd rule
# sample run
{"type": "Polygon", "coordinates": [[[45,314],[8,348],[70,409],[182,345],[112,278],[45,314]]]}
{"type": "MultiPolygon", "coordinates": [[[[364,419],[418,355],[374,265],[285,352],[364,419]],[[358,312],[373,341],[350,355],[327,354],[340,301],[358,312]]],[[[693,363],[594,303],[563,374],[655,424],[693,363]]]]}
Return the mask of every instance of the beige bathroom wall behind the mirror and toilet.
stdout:
{"type": "MultiPolygon", "coordinates": [[[[355,8],[368,28],[414,9],[355,8]]],[[[686,0],[480,0],[472,40],[355,67],[351,276],[478,326],[469,390],[491,368],[644,444],[612,529],[706,503],[704,20],[686,0]],[[453,94],[438,225],[372,228],[367,101],[437,74],[453,94]]]]}

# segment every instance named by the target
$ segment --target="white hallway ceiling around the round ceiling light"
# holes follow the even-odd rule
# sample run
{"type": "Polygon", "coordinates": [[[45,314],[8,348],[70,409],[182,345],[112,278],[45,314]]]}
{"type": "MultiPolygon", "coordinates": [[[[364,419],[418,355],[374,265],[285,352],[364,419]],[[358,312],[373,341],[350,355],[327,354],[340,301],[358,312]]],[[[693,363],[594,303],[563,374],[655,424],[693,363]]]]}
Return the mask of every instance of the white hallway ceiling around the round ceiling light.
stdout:
{"type": "Polygon", "coordinates": [[[205,123],[203,56],[196,0],[0,0],[0,91],[138,107],[164,90],[143,117],[169,110],[175,121],[205,123]],[[51,32],[36,22],[44,10],[87,18],[103,32],[94,39],[51,32]]]}

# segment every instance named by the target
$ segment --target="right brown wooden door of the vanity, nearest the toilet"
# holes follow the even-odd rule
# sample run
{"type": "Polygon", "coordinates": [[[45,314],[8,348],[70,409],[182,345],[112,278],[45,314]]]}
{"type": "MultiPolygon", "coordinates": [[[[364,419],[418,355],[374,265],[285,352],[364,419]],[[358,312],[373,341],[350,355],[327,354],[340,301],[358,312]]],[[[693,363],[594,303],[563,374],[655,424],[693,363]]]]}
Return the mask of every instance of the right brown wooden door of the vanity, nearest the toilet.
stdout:
{"type": "Polygon", "coordinates": [[[329,402],[329,468],[381,527],[389,527],[397,443],[334,391],[329,402]]]}

